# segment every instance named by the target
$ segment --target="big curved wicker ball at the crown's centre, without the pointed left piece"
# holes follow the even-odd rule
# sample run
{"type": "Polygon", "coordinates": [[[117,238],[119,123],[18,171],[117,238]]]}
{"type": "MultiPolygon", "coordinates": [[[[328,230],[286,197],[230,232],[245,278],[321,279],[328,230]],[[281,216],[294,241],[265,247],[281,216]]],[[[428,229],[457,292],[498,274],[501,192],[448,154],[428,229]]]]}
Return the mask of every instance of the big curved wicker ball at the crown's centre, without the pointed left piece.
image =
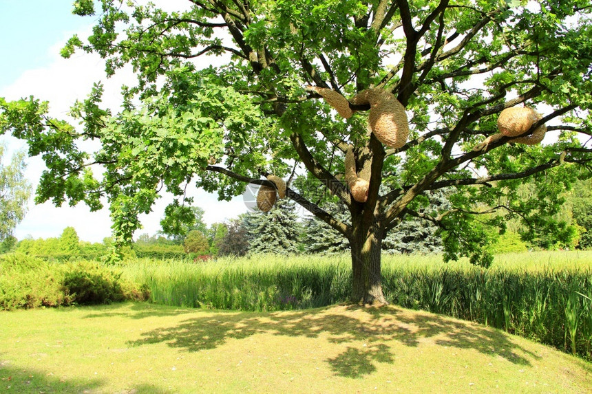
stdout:
{"type": "Polygon", "coordinates": [[[390,91],[366,89],[357,94],[352,102],[369,104],[368,124],[376,138],[390,148],[399,149],[409,136],[409,122],[405,107],[390,91]]]}

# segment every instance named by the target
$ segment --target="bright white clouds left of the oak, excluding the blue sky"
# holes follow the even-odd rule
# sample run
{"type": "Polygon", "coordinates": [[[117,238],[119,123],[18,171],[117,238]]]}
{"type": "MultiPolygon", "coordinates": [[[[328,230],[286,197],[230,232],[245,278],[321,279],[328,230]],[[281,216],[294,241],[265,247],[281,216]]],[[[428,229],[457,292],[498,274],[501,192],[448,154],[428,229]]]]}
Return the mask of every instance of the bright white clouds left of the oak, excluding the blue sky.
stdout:
{"type": "MultiPolygon", "coordinates": [[[[88,31],[87,31],[88,32],[88,31]]],[[[87,32],[78,32],[80,36],[87,36],[87,32]]],[[[34,96],[50,102],[50,116],[64,119],[70,106],[76,99],[83,100],[89,94],[94,82],[101,80],[105,85],[103,103],[117,111],[120,107],[120,86],[127,83],[135,83],[135,76],[131,69],[122,69],[114,77],[106,78],[104,62],[95,54],[75,54],[70,59],[59,56],[59,49],[65,39],[72,34],[65,34],[64,39],[52,46],[49,51],[53,54],[52,61],[45,67],[25,70],[17,80],[8,87],[1,89],[0,97],[7,100],[34,96]]],[[[10,136],[4,136],[8,149],[7,155],[12,152],[26,149],[23,141],[10,136]]],[[[33,187],[39,183],[39,177],[45,168],[39,157],[28,159],[26,177],[30,179],[33,187]]],[[[208,224],[224,221],[246,212],[246,206],[242,197],[236,197],[233,201],[218,201],[215,195],[205,193],[203,190],[193,190],[195,205],[205,210],[204,221],[208,224]]],[[[165,206],[172,201],[170,195],[159,199],[149,215],[141,215],[142,232],[154,234],[160,230],[160,219],[164,215],[165,206]]],[[[111,235],[112,221],[109,218],[109,210],[106,208],[98,212],[89,212],[84,204],[76,207],[63,206],[56,208],[50,202],[34,205],[29,204],[29,210],[25,219],[17,226],[15,236],[23,239],[27,235],[34,238],[59,237],[63,229],[72,226],[76,229],[78,237],[85,241],[100,242],[104,237],[111,235]]]]}

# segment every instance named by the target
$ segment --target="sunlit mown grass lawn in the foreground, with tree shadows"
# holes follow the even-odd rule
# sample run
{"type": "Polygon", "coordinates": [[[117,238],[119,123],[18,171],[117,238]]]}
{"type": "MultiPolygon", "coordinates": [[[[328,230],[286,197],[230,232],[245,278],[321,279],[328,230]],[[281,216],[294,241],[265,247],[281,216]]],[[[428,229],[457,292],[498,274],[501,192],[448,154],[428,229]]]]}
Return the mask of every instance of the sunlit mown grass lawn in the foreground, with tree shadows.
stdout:
{"type": "Polygon", "coordinates": [[[8,393],[589,393],[592,364],[399,307],[0,312],[8,393]]]}

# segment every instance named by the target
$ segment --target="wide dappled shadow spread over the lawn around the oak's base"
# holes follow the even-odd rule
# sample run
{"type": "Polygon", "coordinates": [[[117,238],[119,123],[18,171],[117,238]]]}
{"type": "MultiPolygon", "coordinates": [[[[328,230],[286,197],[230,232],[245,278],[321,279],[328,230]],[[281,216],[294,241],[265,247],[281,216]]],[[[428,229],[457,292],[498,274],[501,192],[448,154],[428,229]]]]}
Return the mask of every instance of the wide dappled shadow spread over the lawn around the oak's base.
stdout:
{"type": "Polygon", "coordinates": [[[397,307],[337,306],[271,314],[218,311],[213,312],[213,316],[209,313],[189,318],[174,327],[147,331],[140,340],[130,344],[165,342],[185,351],[202,351],[219,347],[231,339],[260,333],[306,338],[318,338],[323,334],[336,344],[351,342],[343,353],[327,361],[336,375],[355,378],[376,371],[378,362],[394,363],[394,352],[389,346],[392,341],[408,347],[432,341],[446,347],[475,349],[526,366],[530,365],[529,358],[538,358],[495,329],[397,307]]]}

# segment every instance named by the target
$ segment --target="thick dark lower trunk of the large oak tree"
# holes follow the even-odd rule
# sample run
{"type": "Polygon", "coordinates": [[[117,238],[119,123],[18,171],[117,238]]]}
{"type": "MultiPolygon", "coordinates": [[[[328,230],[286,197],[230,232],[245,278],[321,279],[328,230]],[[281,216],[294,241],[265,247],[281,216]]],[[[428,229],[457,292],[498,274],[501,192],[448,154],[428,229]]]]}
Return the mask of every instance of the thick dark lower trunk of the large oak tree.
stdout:
{"type": "Polygon", "coordinates": [[[382,234],[372,226],[355,226],[351,242],[352,301],[371,305],[387,304],[381,285],[382,234]],[[361,228],[360,228],[361,227],[361,228]]]}

